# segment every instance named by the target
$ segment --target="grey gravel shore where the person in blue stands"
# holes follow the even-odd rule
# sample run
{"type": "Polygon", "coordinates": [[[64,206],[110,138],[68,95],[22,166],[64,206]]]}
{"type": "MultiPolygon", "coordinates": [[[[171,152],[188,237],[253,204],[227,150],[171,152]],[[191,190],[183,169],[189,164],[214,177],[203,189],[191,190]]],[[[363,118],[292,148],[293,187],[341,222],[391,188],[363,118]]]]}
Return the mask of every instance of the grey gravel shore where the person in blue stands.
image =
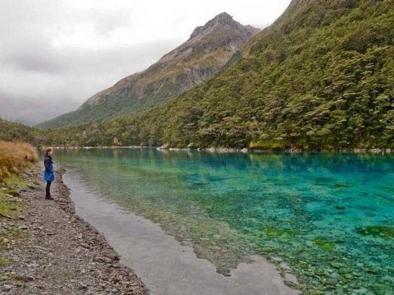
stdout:
{"type": "Polygon", "coordinates": [[[54,201],[44,199],[37,166],[23,173],[25,188],[14,188],[20,195],[8,196],[23,211],[18,220],[0,216],[0,294],[148,294],[103,235],[75,215],[63,172],[54,201]]]}

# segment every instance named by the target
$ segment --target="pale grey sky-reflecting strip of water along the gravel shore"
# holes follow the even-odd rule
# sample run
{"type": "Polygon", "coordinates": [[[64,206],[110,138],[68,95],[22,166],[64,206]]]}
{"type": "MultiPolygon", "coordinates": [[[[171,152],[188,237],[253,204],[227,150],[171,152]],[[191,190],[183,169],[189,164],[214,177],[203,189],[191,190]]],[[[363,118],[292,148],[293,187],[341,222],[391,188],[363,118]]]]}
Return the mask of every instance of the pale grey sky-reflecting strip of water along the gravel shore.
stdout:
{"type": "MultiPolygon", "coordinates": [[[[278,265],[262,256],[248,256],[231,270],[217,273],[213,263],[196,254],[191,245],[177,241],[158,223],[136,215],[91,192],[89,185],[70,171],[65,184],[77,214],[103,235],[155,295],[293,295],[299,294],[290,268],[281,275],[278,265]]],[[[279,258],[276,258],[279,261],[279,258]]],[[[278,263],[279,264],[279,263],[278,263]]],[[[283,263],[282,263],[283,264],[283,263]]]]}

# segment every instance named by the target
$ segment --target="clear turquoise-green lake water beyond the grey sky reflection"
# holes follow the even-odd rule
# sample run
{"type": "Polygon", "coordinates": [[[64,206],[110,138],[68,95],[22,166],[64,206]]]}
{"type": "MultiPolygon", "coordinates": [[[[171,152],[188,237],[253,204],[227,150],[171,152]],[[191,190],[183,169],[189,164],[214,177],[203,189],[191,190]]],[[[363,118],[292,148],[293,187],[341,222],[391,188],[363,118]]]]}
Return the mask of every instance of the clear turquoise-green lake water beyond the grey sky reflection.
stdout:
{"type": "Polygon", "coordinates": [[[92,149],[54,159],[224,275],[260,254],[281,257],[306,294],[394,294],[392,156],[92,149]]]}

